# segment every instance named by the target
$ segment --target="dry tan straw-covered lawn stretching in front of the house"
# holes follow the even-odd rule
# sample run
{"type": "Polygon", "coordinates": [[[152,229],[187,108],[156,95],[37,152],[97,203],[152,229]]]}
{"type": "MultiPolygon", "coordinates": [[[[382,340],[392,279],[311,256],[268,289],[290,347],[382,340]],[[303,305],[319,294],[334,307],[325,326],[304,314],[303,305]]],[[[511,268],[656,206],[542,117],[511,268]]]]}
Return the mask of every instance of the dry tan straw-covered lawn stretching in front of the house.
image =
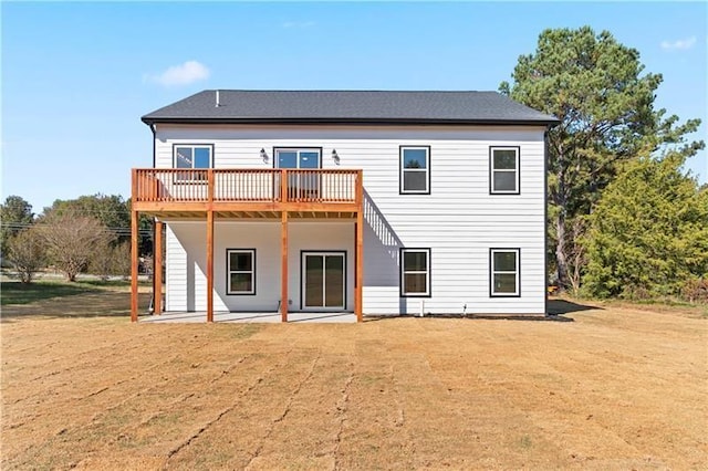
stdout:
{"type": "Polygon", "coordinates": [[[14,315],[0,326],[1,468],[702,469],[708,322],[566,316],[14,315]]]}

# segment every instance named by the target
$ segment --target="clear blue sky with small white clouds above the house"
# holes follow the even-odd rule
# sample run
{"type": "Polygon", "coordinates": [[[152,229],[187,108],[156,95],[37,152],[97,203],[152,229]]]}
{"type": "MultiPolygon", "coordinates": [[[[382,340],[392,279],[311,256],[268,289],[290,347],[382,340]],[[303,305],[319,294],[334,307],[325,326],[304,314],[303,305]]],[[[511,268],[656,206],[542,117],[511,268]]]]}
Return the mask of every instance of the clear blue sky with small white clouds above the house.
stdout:
{"type": "MultiPolygon", "coordinates": [[[[591,25],[662,73],[657,107],[708,122],[694,3],[2,2],[2,199],[129,197],[140,116],[205,88],[497,90],[546,28],[591,25]]],[[[706,151],[688,167],[708,178],[706,151]]]]}

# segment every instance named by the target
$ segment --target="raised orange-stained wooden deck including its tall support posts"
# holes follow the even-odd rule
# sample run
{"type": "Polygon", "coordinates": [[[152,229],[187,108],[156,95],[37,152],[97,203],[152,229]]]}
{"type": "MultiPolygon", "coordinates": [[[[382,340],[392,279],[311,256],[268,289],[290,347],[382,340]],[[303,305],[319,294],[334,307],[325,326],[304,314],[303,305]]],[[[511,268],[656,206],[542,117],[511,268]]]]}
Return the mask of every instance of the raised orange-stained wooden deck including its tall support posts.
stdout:
{"type": "MultiPolygon", "coordinates": [[[[288,221],[350,219],[355,232],[354,313],[362,321],[364,186],[362,170],[344,169],[175,169],[132,171],[132,304],[137,322],[139,214],[155,217],[155,311],[162,310],[163,221],[204,220],[207,232],[207,322],[214,322],[214,224],[219,219],[281,222],[281,300],[288,300],[288,221]]],[[[288,322],[288,307],[281,312],[288,322]]]]}

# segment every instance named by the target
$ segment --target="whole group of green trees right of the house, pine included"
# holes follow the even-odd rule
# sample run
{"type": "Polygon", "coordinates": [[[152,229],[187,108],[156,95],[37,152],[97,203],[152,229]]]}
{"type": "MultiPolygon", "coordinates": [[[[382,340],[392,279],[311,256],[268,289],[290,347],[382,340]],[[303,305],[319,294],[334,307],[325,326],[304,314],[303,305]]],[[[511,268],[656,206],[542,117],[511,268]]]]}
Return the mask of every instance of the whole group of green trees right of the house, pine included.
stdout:
{"type": "Polygon", "coordinates": [[[700,119],[655,108],[660,74],[590,27],[543,31],[500,92],[560,124],[548,132],[549,265],[592,296],[708,301],[708,188],[683,170],[700,119]]]}

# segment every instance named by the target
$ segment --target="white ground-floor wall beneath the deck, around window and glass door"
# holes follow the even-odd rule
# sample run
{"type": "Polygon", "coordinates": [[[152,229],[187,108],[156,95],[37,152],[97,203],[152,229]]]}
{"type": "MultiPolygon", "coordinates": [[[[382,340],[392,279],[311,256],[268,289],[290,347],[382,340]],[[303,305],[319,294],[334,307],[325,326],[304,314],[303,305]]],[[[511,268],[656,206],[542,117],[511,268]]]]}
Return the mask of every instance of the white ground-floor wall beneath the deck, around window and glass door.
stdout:
{"type": "MultiPolygon", "coordinates": [[[[278,222],[217,222],[214,250],[215,311],[259,312],[280,301],[280,228],[278,222]],[[256,294],[227,294],[227,249],[256,250],[256,294]]],[[[289,310],[301,310],[301,252],[346,252],[346,310],[354,308],[354,223],[289,224],[289,310]]],[[[167,311],[206,310],[206,227],[197,221],[167,221],[167,311]]]]}

